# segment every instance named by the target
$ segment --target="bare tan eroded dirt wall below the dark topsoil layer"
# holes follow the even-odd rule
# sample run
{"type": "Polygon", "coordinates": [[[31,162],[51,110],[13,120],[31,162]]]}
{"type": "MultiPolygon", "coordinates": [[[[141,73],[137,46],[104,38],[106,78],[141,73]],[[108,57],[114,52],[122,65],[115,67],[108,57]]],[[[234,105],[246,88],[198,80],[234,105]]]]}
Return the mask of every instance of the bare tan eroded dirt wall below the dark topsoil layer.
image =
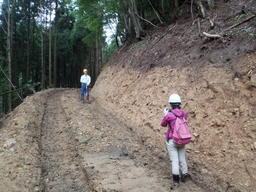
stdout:
{"type": "Polygon", "coordinates": [[[160,122],[169,96],[179,94],[193,135],[186,152],[190,174],[223,190],[256,189],[256,73],[248,74],[255,71],[255,58],[254,53],[243,54],[225,65],[202,61],[199,67],[176,62],[146,72],[108,63],[91,95],[131,126],[145,145],[168,158],[167,128],[160,122]]]}

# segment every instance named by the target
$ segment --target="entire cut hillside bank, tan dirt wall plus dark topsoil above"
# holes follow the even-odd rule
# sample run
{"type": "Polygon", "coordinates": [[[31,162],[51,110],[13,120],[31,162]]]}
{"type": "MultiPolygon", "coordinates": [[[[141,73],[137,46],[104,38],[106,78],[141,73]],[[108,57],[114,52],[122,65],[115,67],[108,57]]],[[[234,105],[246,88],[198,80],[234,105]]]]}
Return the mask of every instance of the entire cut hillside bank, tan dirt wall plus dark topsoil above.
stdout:
{"type": "Polygon", "coordinates": [[[168,159],[160,122],[169,96],[179,94],[193,135],[186,152],[191,178],[212,181],[223,191],[256,190],[255,37],[183,41],[182,31],[169,29],[116,52],[92,96],[155,155],[168,159]]]}

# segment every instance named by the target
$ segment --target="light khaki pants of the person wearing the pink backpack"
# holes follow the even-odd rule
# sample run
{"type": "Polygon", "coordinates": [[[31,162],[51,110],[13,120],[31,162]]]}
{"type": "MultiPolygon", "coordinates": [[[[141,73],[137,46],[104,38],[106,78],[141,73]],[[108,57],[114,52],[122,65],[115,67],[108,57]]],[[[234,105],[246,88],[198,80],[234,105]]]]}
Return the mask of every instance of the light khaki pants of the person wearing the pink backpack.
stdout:
{"type": "Polygon", "coordinates": [[[166,142],[167,150],[172,162],[172,174],[180,175],[188,173],[188,165],[186,162],[185,156],[185,145],[178,145],[173,140],[169,140],[169,143],[166,142]],[[180,164],[180,171],[179,171],[180,164]]]}

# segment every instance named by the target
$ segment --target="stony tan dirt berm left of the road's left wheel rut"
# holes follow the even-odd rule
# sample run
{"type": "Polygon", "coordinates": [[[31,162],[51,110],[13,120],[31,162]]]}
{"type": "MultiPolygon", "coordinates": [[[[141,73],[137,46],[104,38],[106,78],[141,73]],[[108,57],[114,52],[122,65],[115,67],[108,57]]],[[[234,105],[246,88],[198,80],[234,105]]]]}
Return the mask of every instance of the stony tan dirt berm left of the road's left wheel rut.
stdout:
{"type": "Polygon", "coordinates": [[[49,93],[44,91],[27,97],[1,121],[0,191],[39,189],[41,156],[38,139],[49,93]]]}

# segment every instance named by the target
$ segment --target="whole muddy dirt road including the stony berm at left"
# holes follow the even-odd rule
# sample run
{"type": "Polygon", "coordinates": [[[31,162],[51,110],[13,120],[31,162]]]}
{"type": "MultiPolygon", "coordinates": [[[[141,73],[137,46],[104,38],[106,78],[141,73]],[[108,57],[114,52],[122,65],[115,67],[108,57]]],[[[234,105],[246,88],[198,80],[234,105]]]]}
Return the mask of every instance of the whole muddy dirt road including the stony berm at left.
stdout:
{"type": "MultiPolygon", "coordinates": [[[[93,98],[81,104],[78,89],[35,94],[7,120],[0,136],[17,143],[1,153],[0,191],[174,191],[167,152],[146,145],[150,135],[138,137],[93,98]]],[[[176,191],[221,191],[193,175],[176,191]]]]}

